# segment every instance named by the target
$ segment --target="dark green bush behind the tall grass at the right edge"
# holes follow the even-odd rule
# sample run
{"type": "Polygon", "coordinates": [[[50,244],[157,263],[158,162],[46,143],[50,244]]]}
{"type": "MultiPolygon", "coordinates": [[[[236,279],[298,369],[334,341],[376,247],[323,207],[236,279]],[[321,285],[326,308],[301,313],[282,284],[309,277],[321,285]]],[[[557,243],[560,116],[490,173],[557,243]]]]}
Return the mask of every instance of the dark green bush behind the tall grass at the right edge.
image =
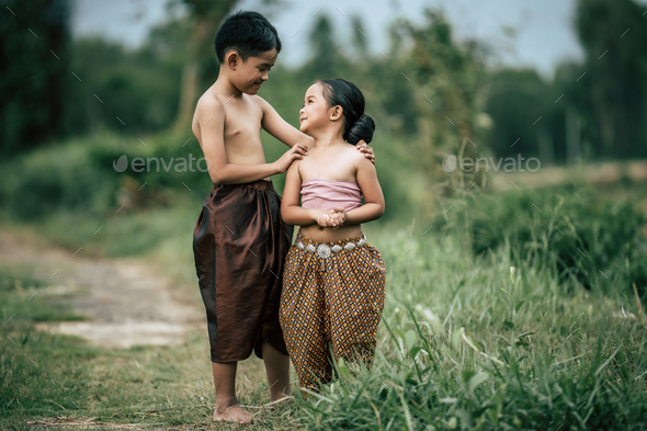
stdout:
{"type": "Polygon", "coordinates": [[[633,203],[560,189],[480,195],[464,205],[438,223],[452,231],[467,226],[477,256],[509,247],[517,262],[538,260],[587,288],[620,285],[627,296],[635,284],[647,299],[645,215],[633,203]]]}

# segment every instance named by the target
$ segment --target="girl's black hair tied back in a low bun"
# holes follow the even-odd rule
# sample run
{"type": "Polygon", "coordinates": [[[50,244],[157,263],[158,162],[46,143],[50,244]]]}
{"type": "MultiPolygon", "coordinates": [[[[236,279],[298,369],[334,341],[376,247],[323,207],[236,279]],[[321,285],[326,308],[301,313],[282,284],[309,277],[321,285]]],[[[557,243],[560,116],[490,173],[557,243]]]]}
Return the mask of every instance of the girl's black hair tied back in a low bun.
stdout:
{"type": "Polygon", "coordinates": [[[343,79],[321,79],[324,97],[330,106],[340,105],[343,110],[343,139],[349,144],[373,139],[375,122],[364,114],[364,94],[357,86],[343,79]]]}

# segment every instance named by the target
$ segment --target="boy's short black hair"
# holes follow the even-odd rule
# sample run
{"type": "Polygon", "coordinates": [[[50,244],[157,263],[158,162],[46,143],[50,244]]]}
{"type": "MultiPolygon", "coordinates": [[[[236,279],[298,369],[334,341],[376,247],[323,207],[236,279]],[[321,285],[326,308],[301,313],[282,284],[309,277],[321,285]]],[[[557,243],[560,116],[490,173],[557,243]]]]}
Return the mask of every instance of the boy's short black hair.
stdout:
{"type": "Polygon", "coordinates": [[[225,61],[225,53],[236,49],[242,61],[256,57],[266,50],[281,50],[281,39],[276,29],[258,12],[239,11],[229,16],[214,42],[218,61],[225,61]]]}

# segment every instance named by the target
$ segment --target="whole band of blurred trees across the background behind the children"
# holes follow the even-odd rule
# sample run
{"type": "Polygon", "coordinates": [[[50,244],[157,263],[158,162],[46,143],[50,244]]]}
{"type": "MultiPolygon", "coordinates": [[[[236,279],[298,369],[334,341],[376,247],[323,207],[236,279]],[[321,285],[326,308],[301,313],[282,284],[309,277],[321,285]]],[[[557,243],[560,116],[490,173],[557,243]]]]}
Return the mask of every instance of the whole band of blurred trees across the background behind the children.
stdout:
{"type": "MultiPolygon", "coordinates": [[[[4,0],[15,15],[3,13],[0,21],[0,154],[102,131],[185,132],[196,98],[217,78],[218,23],[239,2],[170,3],[188,13],[152,29],[139,48],[127,49],[103,38],[72,39],[66,0],[4,0]],[[30,13],[34,7],[43,13],[30,13]],[[25,37],[27,29],[42,36],[25,37]]],[[[270,10],[277,4],[261,3],[270,10]]],[[[557,163],[581,155],[645,157],[647,146],[638,145],[647,137],[642,13],[632,0],[578,0],[574,26],[586,59],[565,60],[547,81],[533,69],[490,67],[493,48],[483,41],[456,41],[439,11],[425,10],[421,25],[396,19],[388,29],[388,56],[367,52],[361,16],[351,19],[360,30],[352,46],[340,48],[333,22],[322,11],[309,30],[308,61],[297,69],[279,61],[263,95],[294,123],[307,84],[343,76],[368,93],[370,111],[382,115],[382,133],[428,149],[469,138],[504,157],[519,138],[514,151],[557,163]],[[541,124],[529,127],[540,116],[541,124]]]]}

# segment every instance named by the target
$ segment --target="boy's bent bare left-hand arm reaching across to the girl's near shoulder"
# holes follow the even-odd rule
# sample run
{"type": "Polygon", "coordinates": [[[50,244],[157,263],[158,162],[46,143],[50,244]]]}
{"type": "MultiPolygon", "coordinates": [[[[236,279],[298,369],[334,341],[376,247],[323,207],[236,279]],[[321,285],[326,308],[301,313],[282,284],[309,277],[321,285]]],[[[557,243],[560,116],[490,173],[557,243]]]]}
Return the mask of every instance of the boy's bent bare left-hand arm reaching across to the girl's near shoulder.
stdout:
{"type": "Polygon", "coordinates": [[[225,109],[217,100],[202,100],[196,107],[202,151],[214,184],[240,184],[284,172],[288,163],[303,158],[304,148],[294,146],[275,163],[236,165],[225,151],[225,109]]]}

